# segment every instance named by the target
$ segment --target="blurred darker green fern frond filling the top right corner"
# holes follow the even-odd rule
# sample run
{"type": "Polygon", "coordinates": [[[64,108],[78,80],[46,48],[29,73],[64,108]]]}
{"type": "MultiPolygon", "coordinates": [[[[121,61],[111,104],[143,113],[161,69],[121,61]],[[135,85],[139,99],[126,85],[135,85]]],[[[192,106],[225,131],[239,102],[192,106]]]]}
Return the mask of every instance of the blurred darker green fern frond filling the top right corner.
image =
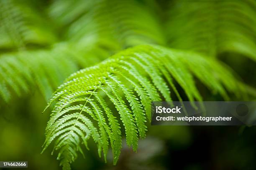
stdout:
{"type": "Polygon", "coordinates": [[[211,56],[237,52],[256,60],[255,8],[255,0],[171,2],[166,22],[168,44],[211,56]]]}

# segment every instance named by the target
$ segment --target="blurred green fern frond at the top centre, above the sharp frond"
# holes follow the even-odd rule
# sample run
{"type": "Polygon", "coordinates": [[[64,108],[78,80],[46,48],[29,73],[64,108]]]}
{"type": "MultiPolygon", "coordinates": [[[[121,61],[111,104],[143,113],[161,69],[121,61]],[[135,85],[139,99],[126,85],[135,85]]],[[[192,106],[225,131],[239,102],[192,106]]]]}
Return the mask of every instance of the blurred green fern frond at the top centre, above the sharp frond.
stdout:
{"type": "Polygon", "coordinates": [[[141,43],[165,43],[159,18],[146,2],[57,0],[49,7],[49,15],[59,22],[59,27],[68,26],[67,40],[97,42],[117,49],[141,43]]]}

